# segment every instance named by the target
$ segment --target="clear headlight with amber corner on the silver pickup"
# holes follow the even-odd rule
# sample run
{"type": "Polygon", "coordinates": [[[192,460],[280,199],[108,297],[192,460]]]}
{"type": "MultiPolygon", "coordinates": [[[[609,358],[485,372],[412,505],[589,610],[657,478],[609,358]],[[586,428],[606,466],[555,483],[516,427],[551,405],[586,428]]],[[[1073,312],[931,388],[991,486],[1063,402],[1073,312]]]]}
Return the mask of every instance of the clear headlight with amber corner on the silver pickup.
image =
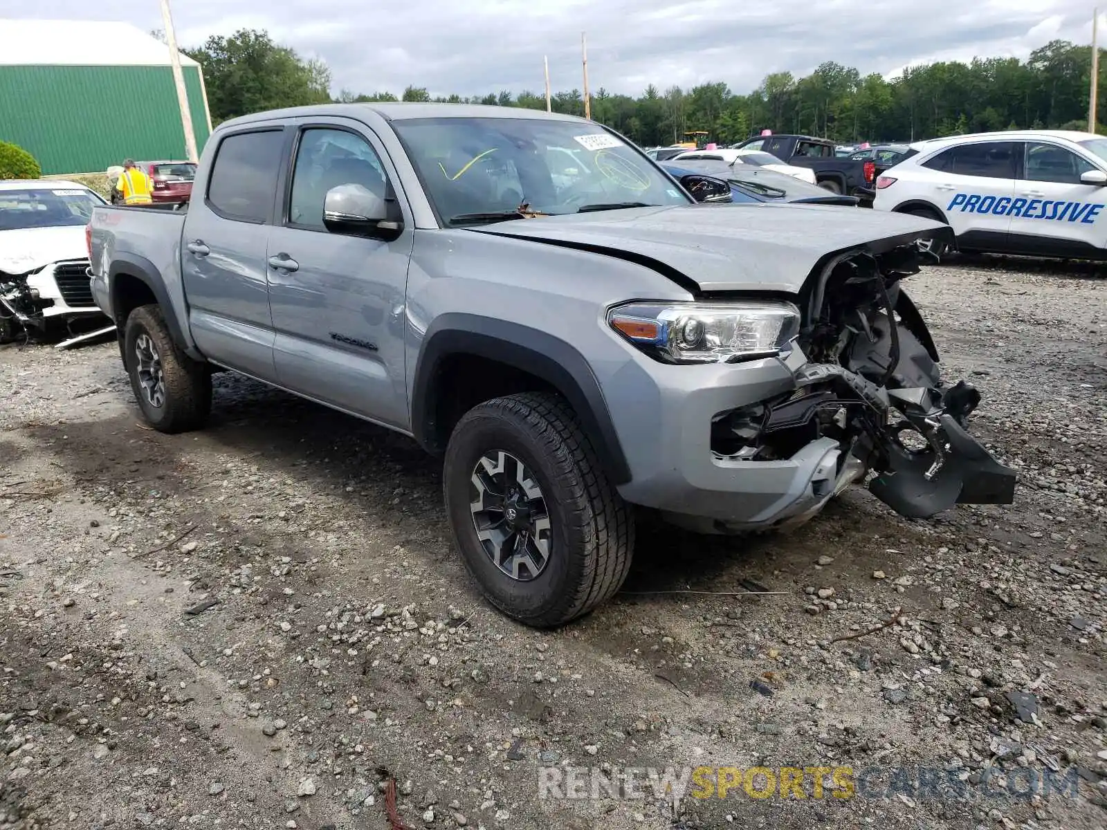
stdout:
{"type": "Polygon", "coordinates": [[[631,302],[608,312],[608,323],[666,363],[734,363],[772,357],[799,333],[789,302],[631,302]]]}

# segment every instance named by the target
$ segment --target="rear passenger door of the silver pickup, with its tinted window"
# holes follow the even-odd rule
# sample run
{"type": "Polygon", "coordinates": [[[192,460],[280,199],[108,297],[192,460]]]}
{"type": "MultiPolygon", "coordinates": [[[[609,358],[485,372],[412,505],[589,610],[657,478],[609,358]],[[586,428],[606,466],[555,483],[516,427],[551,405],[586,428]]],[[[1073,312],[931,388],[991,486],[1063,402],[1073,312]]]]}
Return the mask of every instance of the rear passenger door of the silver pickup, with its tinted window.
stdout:
{"type": "Polygon", "coordinates": [[[266,247],[286,139],[281,124],[220,136],[206,180],[196,183],[201,189],[188,208],[180,251],[196,345],[216,363],[270,382],[276,369],[266,247]]]}

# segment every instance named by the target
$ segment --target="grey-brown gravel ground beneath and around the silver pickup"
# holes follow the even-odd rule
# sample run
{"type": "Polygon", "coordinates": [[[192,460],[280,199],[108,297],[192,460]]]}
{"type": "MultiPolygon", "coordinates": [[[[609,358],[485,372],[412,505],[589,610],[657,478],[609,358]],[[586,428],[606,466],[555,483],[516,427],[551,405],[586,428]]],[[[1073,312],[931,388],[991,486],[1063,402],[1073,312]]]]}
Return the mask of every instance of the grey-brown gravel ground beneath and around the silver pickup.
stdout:
{"type": "Polygon", "coordinates": [[[114,344],[0,350],[0,826],[375,830],[394,780],[413,828],[1103,828],[1107,281],[909,284],[1013,507],[858,490],[788,536],[643,532],[625,591],[555,632],[480,600],[406,439],[227,375],[165,436],[114,344]],[[675,593],[749,585],[782,593],[675,593]],[[540,799],[563,765],[858,786],[540,799]],[[1003,797],[1051,768],[1076,798],[1003,797]]]}

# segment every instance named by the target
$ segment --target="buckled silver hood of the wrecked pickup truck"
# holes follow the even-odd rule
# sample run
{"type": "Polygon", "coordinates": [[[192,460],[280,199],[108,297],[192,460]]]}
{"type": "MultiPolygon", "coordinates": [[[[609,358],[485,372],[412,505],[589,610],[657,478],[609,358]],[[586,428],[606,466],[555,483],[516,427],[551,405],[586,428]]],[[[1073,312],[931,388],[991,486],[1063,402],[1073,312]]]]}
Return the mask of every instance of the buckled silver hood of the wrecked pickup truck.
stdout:
{"type": "Polygon", "coordinates": [[[930,219],[867,208],[730,204],[547,216],[469,230],[639,262],[701,292],[790,294],[834,253],[880,253],[950,234],[930,219]]]}

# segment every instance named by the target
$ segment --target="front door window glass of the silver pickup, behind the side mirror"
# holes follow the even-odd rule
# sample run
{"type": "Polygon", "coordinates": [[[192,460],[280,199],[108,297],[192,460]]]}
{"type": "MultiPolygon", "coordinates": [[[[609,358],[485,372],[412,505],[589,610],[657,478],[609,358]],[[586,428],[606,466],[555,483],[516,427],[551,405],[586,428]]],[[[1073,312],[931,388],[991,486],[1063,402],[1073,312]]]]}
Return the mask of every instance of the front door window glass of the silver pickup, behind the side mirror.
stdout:
{"type": "Polygon", "coordinates": [[[324,230],[323,200],[328,190],[339,185],[361,185],[383,199],[385,180],[381,159],[361,136],[344,129],[306,129],[296,154],[288,221],[324,230]]]}

